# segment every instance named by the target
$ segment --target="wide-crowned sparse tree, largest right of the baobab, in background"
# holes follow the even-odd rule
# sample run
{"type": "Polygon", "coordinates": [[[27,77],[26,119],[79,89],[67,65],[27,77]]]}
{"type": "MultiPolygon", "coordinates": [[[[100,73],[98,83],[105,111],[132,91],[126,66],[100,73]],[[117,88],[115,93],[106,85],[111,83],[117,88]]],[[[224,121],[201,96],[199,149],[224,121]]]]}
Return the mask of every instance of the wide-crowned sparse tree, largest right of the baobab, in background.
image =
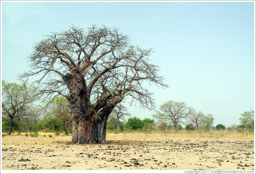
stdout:
{"type": "Polygon", "coordinates": [[[160,105],[159,111],[153,117],[166,120],[170,127],[174,127],[178,131],[179,123],[184,124],[185,119],[193,113],[193,108],[188,107],[185,102],[168,101],[160,105]]]}

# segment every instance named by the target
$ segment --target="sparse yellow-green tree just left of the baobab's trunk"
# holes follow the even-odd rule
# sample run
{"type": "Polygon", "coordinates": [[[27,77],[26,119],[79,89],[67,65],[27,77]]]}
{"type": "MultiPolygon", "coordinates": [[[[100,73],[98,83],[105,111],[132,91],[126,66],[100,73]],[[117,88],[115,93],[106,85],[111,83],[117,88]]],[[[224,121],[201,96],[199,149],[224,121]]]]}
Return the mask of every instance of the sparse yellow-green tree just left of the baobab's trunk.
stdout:
{"type": "Polygon", "coordinates": [[[67,126],[72,121],[72,114],[67,99],[57,96],[50,104],[49,109],[54,118],[62,123],[65,135],[68,135],[67,126]]]}

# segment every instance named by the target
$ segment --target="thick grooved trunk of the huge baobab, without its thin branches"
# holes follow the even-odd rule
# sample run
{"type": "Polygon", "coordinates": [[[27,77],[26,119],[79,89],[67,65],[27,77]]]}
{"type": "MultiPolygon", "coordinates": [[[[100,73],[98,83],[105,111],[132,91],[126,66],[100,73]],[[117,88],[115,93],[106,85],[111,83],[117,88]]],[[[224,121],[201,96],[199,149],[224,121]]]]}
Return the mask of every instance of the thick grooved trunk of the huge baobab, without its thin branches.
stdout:
{"type": "Polygon", "coordinates": [[[67,74],[65,77],[70,86],[68,100],[73,115],[72,143],[105,143],[108,116],[124,96],[119,96],[116,101],[104,101],[93,110],[89,97],[84,95],[80,75],[67,74]]]}

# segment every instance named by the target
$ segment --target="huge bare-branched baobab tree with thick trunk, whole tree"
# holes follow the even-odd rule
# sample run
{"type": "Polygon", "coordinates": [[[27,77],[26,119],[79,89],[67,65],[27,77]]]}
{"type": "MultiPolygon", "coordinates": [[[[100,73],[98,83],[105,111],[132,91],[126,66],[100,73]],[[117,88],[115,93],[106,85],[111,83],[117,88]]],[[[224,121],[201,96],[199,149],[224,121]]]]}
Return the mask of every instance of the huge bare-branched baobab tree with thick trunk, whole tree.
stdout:
{"type": "Polygon", "coordinates": [[[20,78],[36,75],[40,78],[34,83],[45,97],[67,98],[73,143],[104,143],[108,116],[118,103],[131,96],[131,103],[152,109],[154,99],[145,82],[167,87],[159,67],[149,63],[151,52],[131,45],[116,28],[71,26],[34,45],[28,56],[31,70],[20,78]]]}

